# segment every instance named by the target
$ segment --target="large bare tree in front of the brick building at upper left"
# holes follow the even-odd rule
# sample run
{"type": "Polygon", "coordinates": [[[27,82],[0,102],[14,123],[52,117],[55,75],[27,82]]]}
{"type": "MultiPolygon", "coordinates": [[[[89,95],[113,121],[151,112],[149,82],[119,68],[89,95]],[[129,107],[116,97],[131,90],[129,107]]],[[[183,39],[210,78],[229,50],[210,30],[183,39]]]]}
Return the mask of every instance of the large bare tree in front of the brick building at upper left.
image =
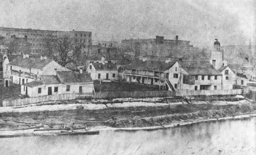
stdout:
{"type": "Polygon", "coordinates": [[[59,63],[66,66],[68,63],[76,63],[81,56],[81,48],[68,35],[59,37],[55,41],[46,40],[46,55],[59,63]]]}

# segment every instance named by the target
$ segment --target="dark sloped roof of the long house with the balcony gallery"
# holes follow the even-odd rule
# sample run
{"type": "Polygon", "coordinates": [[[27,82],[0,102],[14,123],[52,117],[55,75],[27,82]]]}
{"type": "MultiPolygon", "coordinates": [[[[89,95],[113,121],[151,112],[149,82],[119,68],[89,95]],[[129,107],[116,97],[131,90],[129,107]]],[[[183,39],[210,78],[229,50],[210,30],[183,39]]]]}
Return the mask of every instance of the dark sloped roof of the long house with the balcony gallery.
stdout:
{"type": "Polygon", "coordinates": [[[130,69],[139,69],[139,70],[155,70],[155,71],[165,71],[170,69],[176,62],[161,62],[161,61],[132,61],[125,67],[130,69]]]}

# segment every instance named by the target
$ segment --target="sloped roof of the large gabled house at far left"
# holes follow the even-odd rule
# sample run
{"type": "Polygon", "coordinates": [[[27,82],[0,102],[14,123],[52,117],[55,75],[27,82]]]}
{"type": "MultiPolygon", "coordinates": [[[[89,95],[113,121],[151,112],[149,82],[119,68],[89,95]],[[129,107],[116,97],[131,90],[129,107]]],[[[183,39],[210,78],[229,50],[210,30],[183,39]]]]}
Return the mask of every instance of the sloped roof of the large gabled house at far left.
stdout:
{"type": "Polygon", "coordinates": [[[23,59],[23,56],[18,56],[17,58],[13,59],[9,63],[9,65],[33,68],[33,69],[43,69],[43,67],[46,66],[51,61],[52,61],[51,59],[40,61],[40,57],[23,59]]]}

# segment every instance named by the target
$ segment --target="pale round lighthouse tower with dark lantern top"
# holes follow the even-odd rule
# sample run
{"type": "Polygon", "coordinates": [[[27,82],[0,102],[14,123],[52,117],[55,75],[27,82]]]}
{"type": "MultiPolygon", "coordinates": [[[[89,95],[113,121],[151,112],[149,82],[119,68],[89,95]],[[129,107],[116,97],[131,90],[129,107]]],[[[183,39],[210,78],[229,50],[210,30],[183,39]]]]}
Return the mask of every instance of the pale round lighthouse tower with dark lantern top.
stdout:
{"type": "Polygon", "coordinates": [[[223,66],[223,51],[220,49],[220,41],[215,39],[213,43],[214,49],[211,53],[210,63],[215,67],[215,69],[220,69],[223,66]]]}

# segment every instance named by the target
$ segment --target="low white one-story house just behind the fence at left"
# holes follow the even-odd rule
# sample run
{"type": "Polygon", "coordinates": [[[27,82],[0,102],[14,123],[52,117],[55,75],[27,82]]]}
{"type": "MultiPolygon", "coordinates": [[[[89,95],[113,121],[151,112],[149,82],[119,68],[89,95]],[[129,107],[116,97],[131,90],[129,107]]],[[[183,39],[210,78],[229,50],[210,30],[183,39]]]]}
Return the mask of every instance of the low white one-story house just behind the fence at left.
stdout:
{"type": "Polygon", "coordinates": [[[39,75],[35,81],[21,85],[21,94],[29,97],[92,92],[94,84],[90,75],[74,71],[56,71],[54,75],[39,75]]]}

